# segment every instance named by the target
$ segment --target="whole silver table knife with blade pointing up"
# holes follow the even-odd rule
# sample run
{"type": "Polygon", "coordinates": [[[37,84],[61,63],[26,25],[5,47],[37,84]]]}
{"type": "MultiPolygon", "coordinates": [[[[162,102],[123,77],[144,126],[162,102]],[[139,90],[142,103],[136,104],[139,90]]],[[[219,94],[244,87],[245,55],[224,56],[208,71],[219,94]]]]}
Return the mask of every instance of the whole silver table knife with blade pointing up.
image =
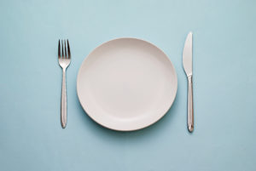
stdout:
{"type": "Polygon", "coordinates": [[[192,32],[189,32],[183,48],[183,68],[188,77],[188,129],[194,129],[193,86],[192,86],[192,32]]]}

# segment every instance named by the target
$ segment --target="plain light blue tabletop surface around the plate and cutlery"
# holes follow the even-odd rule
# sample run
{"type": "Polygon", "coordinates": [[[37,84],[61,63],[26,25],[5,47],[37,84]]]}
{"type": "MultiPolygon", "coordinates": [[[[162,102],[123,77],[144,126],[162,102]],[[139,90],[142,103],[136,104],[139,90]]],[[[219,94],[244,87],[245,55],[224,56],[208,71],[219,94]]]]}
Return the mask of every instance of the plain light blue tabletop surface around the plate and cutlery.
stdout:
{"type": "Polygon", "coordinates": [[[256,1],[2,0],[1,171],[256,169],[256,1]],[[183,43],[194,32],[195,131],[186,127],[183,43]],[[172,109],[149,128],[115,132],[84,113],[79,66],[117,37],[154,43],[177,71],[172,109]],[[67,128],[60,123],[57,41],[69,38],[67,128]]]}

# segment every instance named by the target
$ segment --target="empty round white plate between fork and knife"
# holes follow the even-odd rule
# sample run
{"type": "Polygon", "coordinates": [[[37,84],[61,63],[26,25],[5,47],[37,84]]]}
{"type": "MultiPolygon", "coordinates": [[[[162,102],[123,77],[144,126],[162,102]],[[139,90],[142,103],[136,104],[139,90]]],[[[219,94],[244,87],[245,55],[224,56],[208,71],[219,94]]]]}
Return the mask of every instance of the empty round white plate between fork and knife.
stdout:
{"type": "Polygon", "coordinates": [[[84,111],[103,127],[131,131],[157,122],[177,92],[172,62],[160,48],[136,38],[119,38],[95,48],[77,80],[84,111]]]}

